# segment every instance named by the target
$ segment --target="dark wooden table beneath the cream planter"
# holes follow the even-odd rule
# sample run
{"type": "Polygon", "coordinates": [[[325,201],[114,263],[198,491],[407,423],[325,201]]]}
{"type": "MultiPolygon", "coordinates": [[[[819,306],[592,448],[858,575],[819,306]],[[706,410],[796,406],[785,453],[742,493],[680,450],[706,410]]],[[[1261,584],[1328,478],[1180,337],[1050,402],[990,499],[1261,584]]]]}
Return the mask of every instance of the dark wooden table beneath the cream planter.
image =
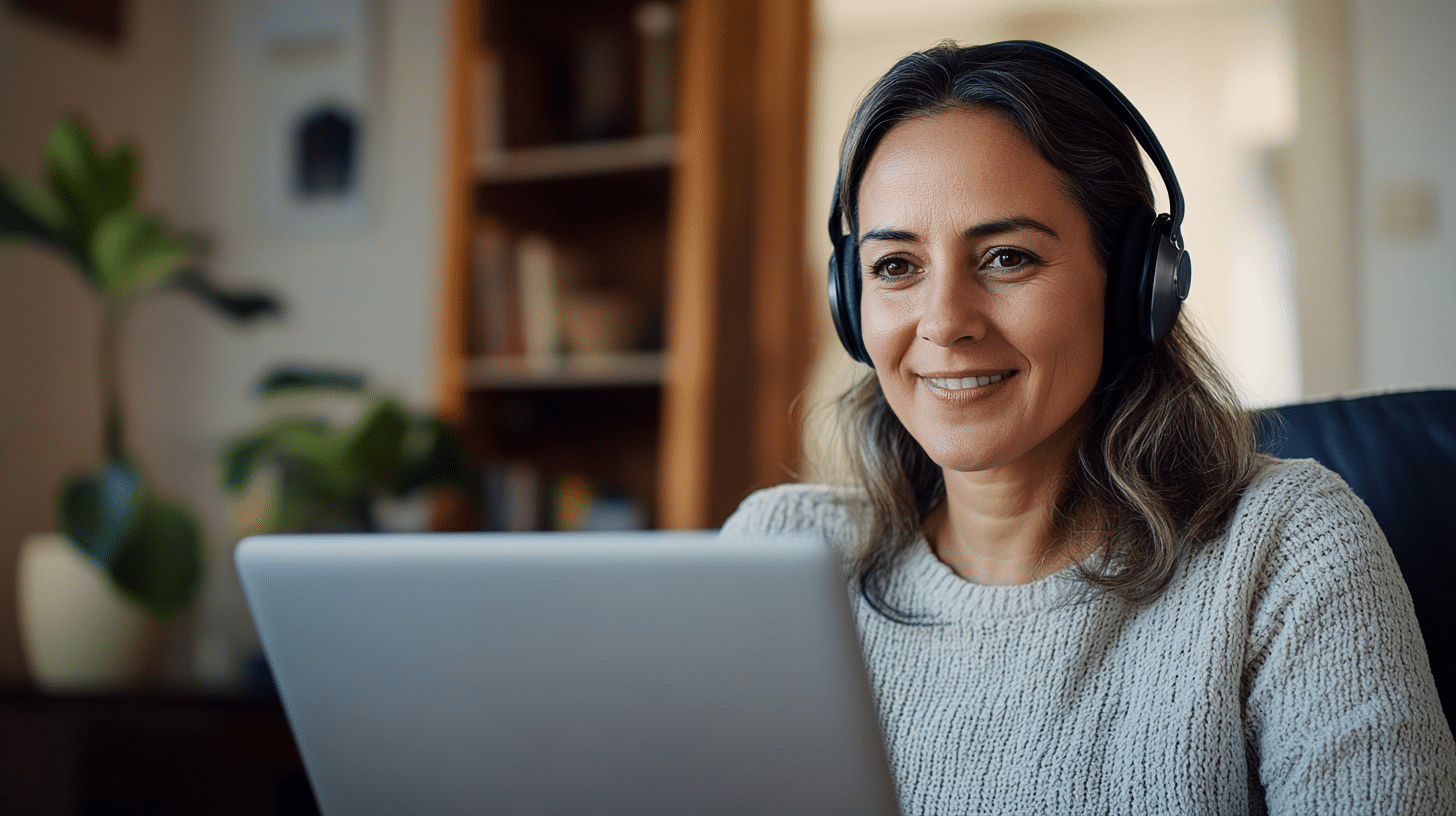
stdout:
{"type": "Polygon", "coordinates": [[[0,689],[0,813],[317,812],[277,699],[0,689]]]}

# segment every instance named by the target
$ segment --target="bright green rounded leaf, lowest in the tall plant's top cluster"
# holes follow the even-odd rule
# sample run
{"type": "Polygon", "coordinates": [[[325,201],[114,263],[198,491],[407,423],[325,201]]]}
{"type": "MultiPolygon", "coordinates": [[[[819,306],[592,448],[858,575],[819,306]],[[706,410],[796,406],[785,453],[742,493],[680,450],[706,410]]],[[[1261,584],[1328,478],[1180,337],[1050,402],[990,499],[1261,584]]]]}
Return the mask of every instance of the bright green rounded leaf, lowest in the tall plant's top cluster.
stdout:
{"type": "Polygon", "coordinates": [[[125,300],[160,287],[188,258],[188,246],[160,219],[135,207],[108,213],[92,235],[90,258],[102,291],[125,300]]]}

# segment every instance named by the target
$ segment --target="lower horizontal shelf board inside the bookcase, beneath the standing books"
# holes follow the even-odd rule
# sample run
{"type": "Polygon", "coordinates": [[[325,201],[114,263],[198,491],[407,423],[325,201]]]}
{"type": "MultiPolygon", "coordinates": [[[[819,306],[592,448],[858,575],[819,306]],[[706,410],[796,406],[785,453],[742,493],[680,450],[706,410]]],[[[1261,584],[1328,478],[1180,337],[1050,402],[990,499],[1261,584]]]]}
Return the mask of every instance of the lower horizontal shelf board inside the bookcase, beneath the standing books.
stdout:
{"type": "Polygon", "coordinates": [[[638,388],[662,385],[661,351],[561,357],[472,357],[466,380],[483,391],[638,388]]]}

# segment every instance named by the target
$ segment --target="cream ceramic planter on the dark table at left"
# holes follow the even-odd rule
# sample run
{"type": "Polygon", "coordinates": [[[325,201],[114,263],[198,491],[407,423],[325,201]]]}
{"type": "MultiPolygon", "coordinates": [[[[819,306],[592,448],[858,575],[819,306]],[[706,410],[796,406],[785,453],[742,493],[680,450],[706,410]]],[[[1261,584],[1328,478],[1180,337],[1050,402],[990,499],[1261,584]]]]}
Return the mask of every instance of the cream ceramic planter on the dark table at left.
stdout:
{"type": "Polygon", "coordinates": [[[64,535],[28,538],[17,581],[20,640],[36,686],[116,691],[154,678],[163,624],[124,599],[64,535]]]}

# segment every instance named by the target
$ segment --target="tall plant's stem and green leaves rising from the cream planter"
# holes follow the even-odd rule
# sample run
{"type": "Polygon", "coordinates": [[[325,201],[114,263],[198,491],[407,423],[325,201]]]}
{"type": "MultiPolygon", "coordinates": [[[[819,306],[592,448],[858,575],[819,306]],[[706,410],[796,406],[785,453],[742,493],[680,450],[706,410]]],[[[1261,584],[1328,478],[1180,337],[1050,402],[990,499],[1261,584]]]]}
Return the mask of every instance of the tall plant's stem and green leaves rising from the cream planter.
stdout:
{"type": "Polygon", "coordinates": [[[128,603],[165,618],[197,595],[202,541],[194,514],[157,495],[127,450],[121,328],[138,300],[163,289],[188,291],[233,321],[274,315],[280,306],[266,294],[213,286],[195,265],[192,242],[137,203],[137,181],[131,146],[100,147],[80,118],[67,117],[47,143],[41,181],[0,175],[0,242],[58,254],[100,300],[102,462],[61,485],[58,525],[128,603]]]}

